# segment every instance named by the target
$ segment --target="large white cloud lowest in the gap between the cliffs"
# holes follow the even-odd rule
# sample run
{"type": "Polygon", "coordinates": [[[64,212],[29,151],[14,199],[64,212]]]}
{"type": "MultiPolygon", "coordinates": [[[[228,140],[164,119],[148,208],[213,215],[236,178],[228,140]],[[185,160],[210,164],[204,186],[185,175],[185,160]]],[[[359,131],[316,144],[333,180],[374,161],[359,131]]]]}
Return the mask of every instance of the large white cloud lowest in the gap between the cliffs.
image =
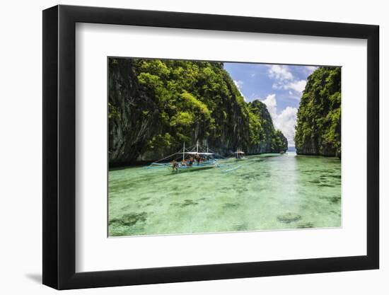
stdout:
{"type": "Polygon", "coordinates": [[[274,127],[281,130],[286,139],[288,139],[288,146],[294,146],[297,108],[286,107],[284,110],[281,110],[281,112],[278,113],[277,99],[275,94],[269,94],[265,100],[262,100],[262,103],[265,103],[267,106],[267,110],[272,117],[274,127]]]}

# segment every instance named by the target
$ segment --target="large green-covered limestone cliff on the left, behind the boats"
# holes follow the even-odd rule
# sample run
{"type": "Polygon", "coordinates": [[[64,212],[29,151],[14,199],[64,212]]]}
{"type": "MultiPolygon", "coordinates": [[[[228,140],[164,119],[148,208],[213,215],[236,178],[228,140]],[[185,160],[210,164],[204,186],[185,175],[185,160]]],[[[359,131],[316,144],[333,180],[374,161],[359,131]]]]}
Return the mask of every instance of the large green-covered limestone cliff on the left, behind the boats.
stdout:
{"type": "Polygon", "coordinates": [[[153,161],[197,141],[227,156],[286,151],[259,100],[245,103],[223,64],[109,59],[110,163],[153,161]]]}

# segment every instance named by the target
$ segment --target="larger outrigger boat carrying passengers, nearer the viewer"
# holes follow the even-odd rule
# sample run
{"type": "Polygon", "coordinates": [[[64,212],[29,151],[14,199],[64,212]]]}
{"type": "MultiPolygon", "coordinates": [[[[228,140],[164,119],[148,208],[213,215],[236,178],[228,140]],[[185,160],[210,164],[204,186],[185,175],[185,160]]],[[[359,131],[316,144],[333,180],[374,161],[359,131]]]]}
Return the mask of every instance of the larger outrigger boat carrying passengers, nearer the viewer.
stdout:
{"type": "Polygon", "coordinates": [[[180,151],[165,158],[161,158],[156,162],[150,164],[146,168],[169,168],[175,173],[190,171],[190,170],[202,170],[217,167],[217,159],[215,154],[209,152],[208,146],[206,151],[201,151],[201,146],[197,142],[196,146],[192,149],[185,149],[185,143],[180,151]],[[195,150],[194,150],[195,148],[195,150]],[[199,150],[200,148],[200,150],[199,150]],[[170,162],[162,162],[168,161],[170,162]]]}

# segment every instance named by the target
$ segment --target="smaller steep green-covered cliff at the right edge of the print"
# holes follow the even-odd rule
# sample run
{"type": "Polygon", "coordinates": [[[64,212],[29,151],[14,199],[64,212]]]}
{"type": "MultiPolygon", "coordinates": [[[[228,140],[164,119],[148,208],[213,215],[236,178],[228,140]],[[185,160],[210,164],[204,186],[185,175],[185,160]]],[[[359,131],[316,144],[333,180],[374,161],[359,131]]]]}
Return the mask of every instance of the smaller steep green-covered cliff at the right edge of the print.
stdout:
{"type": "Polygon", "coordinates": [[[297,112],[297,154],[341,156],[341,69],[320,67],[308,77],[297,112]]]}

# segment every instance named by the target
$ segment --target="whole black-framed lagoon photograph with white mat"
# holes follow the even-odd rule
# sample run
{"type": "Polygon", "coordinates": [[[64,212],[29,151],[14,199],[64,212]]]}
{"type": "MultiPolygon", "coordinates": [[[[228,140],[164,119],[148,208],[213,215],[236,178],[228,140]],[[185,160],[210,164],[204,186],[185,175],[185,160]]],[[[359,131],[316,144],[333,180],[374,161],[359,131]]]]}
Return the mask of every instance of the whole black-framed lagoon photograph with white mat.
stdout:
{"type": "Polygon", "coordinates": [[[43,11],[43,284],[379,266],[378,26],[43,11]]]}

